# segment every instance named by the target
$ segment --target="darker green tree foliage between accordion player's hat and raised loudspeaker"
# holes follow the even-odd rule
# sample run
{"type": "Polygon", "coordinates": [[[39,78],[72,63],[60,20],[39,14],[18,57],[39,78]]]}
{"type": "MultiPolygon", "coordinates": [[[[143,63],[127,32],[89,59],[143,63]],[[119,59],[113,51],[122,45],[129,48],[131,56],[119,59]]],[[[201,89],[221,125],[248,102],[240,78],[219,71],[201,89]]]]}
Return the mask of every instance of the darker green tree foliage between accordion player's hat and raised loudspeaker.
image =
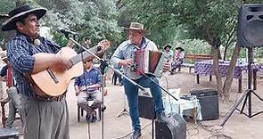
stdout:
{"type": "MultiPolygon", "coordinates": [[[[127,0],[125,2],[127,10],[134,13],[132,18],[141,20],[150,29],[161,32],[166,28],[173,30],[178,25],[184,25],[189,38],[200,38],[209,43],[213,37],[224,37],[223,34],[228,33],[229,26],[226,26],[226,23],[234,24],[233,21],[228,20],[235,20],[240,5],[233,0],[156,0],[154,2],[127,0]]],[[[233,25],[231,27],[230,29],[234,28],[233,25]]],[[[170,32],[165,33],[173,36],[170,32]]]]}

